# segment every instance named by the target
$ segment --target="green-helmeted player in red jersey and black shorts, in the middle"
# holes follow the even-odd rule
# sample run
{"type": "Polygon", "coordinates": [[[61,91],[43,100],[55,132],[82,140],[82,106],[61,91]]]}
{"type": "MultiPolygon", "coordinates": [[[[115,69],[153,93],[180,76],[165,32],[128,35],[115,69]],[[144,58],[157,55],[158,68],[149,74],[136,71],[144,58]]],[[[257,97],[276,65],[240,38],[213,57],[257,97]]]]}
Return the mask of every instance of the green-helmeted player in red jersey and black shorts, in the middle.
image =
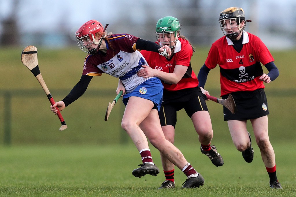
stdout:
{"type": "MultiPolygon", "coordinates": [[[[199,135],[200,150],[207,155],[215,166],[224,164],[221,155],[214,145],[211,145],[213,129],[210,114],[205,103],[205,94],[198,87],[198,80],[192,70],[190,59],[194,48],[191,43],[180,35],[180,23],[175,17],[163,17],[156,25],[157,42],[160,46],[169,46],[172,49],[170,56],[151,53],[142,50],[149,66],[138,72],[138,76],[144,78],[158,77],[162,80],[163,102],[159,112],[160,123],[165,138],[174,143],[175,126],[177,122],[177,111],[185,109],[192,119],[194,128],[199,135]]],[[[165,174],[165,181],[159,189],[174,188],[174,164],[163,154],[161,160],[165,174]]]]}

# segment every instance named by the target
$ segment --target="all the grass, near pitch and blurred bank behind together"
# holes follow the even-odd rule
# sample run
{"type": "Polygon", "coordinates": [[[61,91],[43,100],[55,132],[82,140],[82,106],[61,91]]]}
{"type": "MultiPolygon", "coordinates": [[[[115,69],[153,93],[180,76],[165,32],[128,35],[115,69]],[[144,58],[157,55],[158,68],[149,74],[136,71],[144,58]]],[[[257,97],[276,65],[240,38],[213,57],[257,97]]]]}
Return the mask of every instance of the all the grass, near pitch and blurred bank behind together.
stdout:
{"type": "MultiPolygon", "coordinates": [[[[104,121],[107,104],[115,97],[118,81],[110,76],[94,77],[86,93],[64,111],[68,128],[49,109],[41,86],[22,65],[22,48],[1,49],[0,72],[0,196],[296,196],[296,50],[271,51],[280,76],[266,85],[269,136],[276,154],[278,179],[283,190],[271,190],[258,146],[255,158],[244,162],[223,122],[222,106],[207,101],[216,145],[224,159],[215,167],[199,151],[197,135],[184,110],[178,113],[176,146],[205,178],[201,188],[181,190],[186,177],[176,169],[176,188],[157,190],[164,180],[159,152],[150,146],[160,168],[157,177],[135,178],[133,169],[141,163],[135,146],[121,129],[123,104],[118,102],[104,121]],[[7,102],[7,92],[11,97],[7,102]],[[3,144],[9,106],[11,145],[3,144]]],[[[56,101],[63,99],[78,82],[85,53],[77,49],[38,48],[38,63],[56,101]]],[[[198,73],[208,48],[197,48],[192,58],[198,73]]],[[[264,70],[264,69],[263,69],[264,70]]],[[[266,69],[265,69],[266,70],[266,69]]],[[[219,97],[219,69],[208,76],[206,89],[219,97]]],[[[254,135],[248,122],[248,130],[254,135]]]]}

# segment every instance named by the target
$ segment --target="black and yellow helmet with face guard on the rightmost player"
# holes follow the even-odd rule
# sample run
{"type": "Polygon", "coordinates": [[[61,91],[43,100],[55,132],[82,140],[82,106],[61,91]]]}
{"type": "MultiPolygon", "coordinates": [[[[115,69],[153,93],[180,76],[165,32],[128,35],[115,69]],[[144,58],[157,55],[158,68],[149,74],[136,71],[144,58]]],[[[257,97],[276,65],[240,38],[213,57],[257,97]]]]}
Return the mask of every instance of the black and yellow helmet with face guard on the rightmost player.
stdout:
{"type": "MultiPolygon", "coordinates": [[[[247,20],[250,21],[250,20],[247,20]]],[[[246,18],[244,15],[244,10],[239,7],[230,7],[227,8],[226,10],[223,10],[220,15],[219,15],[219,23],[221,30],[224,35],[226,35],[227,38],[231,40],[235,40],[239,34],[244,30],[246,26],[246,18]],[[231,22],[235,21],[235,25],[231,25],[231,22]],[[244,21],[244,25],[241,27],[240,24],[241,22],[244,21]],[[230,24],[230,27],[227,26],[226,28],[226,23],[230,24]],[[227,30],[231,29],[232,32],[228,33],[227,30]]]]}

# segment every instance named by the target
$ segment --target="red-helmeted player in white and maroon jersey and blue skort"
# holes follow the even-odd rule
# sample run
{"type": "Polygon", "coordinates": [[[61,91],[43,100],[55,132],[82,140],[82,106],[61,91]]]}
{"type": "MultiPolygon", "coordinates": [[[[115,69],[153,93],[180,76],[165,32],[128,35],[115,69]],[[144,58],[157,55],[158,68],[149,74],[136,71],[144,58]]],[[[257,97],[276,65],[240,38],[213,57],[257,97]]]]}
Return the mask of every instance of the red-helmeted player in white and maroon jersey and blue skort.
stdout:
{"type": "Polygon", "coordinates": [[[62,101],[51,106],[52,112],[57,114],[56,108],[61,111],[82,96],[93,76],[106,73],[119,78],[116,92],[123,91],[123,103],[126,105],[121,126],[134,142],[142,158],[142,164],[134,169],[132,174],[140,178],[146,174],[156,176],[159,173],[158,167],[152,160],[148,138],[155,148],[187,176],[183,188],[200,187],[205,182],[202,175],[186,161],[176,146],[165,139],[161,129],[158,112],[163,96],[163,85],[160,79],[143,78],[136,74],[138,70],[143,69],[142,65],[147,64],[139,50],[154,51],[155,54],[166,50],[170,55],[171,49],[130,34],[107,33],[106,27],[103,28],[97,20],[90,20],[76,31],[78,46],[88,53],[84,60],[82,76],[62,101]]]}

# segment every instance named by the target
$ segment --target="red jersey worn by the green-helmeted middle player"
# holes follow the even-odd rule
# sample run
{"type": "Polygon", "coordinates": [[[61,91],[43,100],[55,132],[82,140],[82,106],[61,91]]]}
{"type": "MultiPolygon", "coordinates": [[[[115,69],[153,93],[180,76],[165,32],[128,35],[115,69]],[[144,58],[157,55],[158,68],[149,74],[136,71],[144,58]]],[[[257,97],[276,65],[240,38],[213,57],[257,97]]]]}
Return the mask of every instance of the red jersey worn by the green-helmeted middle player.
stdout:
{"type": "Polygon", "coordinates": [[[157,70],[163,72],[174,72],[176,65],[187,66],[188,69],[185,75],[177,84],[171,84],[165,81],[162,81],[163,87],[168,91],[177,91],[186,88],[195,88],[198,86],[198,80],[195,73],[192,70],[190,59],[193,54],[192,46],[188,41],[178,38],[176,43],[174,54],[168,60],[163,57],[161,54],[157,54],[151,51],[141,50],[141,54],[146,59],[148,65],[157,70]]]}

